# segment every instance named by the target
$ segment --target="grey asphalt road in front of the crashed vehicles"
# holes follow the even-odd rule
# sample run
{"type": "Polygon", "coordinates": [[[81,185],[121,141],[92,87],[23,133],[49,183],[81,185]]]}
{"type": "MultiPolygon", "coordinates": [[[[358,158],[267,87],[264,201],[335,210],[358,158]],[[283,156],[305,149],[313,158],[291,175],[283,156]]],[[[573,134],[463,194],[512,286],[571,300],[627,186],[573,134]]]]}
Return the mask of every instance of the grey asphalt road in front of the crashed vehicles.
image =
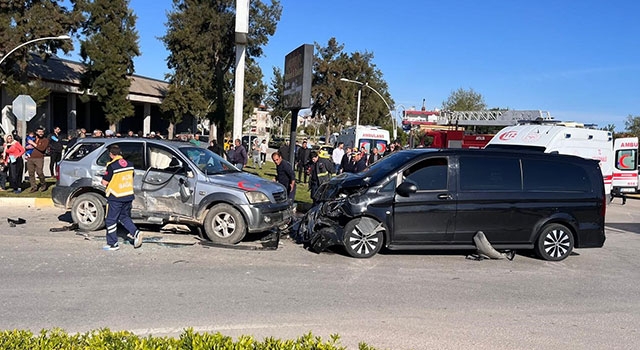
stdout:
{"type": "MultiPolygon", "coordinates": [[[[464,252],[314,254],[206,248],[194,236],[148,232],[142,248],[105,252],[49,232],[55,208],[0,208],[0,329],[108,327],[138,335],[182,329],[295,338],[357,349],[633,349],[640,344],[640,200],[616,199],[601,249],[545,262],[471,261],[464,252]],[[6,218],[26,223],[9,227],[6,218]],[[152,243],[164,242],[164,243],[152,243]]],[[[251,244],[251,243],[248,243],[251,244]]]]}

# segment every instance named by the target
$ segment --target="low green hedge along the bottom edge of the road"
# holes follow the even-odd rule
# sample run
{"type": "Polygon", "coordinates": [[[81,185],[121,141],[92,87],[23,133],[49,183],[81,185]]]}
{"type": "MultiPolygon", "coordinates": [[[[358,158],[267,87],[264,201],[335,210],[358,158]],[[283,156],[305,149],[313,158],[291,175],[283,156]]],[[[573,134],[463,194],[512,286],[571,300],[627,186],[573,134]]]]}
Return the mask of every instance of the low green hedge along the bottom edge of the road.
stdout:
{"type": "MultiPolygon", "coordinates": [[[[0,349],[101,349],[101,350],[158,350],[158,349],[215,349],[215,350],[344,350],[340,345],[340,336],[331,335],[330,340],[322,341],[311,333],[295,340],[266,338],[257,341],[251,336],[240,336],[236,341],[220,333],[196,333],[186,329],[179,338],[137,335],[108,328],[93,330],[84,334],[67,334],[64,330],[42,330],[34,335],[30,331],[13,330],[0,332],[0,349]]],[[[375,350],[364,343],[360,350],[375,350]]]]}

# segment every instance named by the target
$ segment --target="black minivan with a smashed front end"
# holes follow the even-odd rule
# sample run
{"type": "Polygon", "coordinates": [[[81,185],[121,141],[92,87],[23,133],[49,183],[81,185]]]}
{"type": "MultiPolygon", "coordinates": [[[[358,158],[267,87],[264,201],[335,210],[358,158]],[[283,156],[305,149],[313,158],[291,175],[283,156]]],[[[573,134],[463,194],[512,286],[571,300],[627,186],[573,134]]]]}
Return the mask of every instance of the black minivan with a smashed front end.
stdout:
{"type": "Polygon", "coordinates": [[[606,197],[597,161],[538,152],[414,149],[337,176],[297,235],[311,250],[342,245],[356,258],[382,247],[498,250],[559,261],[602,247],[606,197]]]}

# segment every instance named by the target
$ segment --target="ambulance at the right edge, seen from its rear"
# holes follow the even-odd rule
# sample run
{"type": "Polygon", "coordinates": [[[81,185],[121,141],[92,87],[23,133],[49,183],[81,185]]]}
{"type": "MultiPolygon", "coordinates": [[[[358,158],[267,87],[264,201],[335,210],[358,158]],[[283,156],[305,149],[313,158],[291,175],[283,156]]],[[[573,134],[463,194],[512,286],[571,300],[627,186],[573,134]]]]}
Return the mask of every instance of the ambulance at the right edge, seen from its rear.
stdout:
{"type": "Polygon", "coordinates": [[[638,138],[617,138],[613,144],[615,165],[612,187],[620,193],[637,193],[638,179],[638,138]]]}

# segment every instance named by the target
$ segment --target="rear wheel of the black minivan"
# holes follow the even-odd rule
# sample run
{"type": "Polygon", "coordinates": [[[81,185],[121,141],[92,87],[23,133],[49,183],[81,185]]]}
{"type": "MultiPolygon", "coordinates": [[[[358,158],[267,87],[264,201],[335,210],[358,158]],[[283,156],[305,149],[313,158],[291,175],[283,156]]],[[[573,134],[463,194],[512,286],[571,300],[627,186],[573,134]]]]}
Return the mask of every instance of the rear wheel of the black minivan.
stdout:
{"type": "Polygon", "coordinates": [[[561,224],[548,224],[540,230],[536,254],[544,260],[560,261],[571,255],[573,247],[571,230],[561,224]]]}

